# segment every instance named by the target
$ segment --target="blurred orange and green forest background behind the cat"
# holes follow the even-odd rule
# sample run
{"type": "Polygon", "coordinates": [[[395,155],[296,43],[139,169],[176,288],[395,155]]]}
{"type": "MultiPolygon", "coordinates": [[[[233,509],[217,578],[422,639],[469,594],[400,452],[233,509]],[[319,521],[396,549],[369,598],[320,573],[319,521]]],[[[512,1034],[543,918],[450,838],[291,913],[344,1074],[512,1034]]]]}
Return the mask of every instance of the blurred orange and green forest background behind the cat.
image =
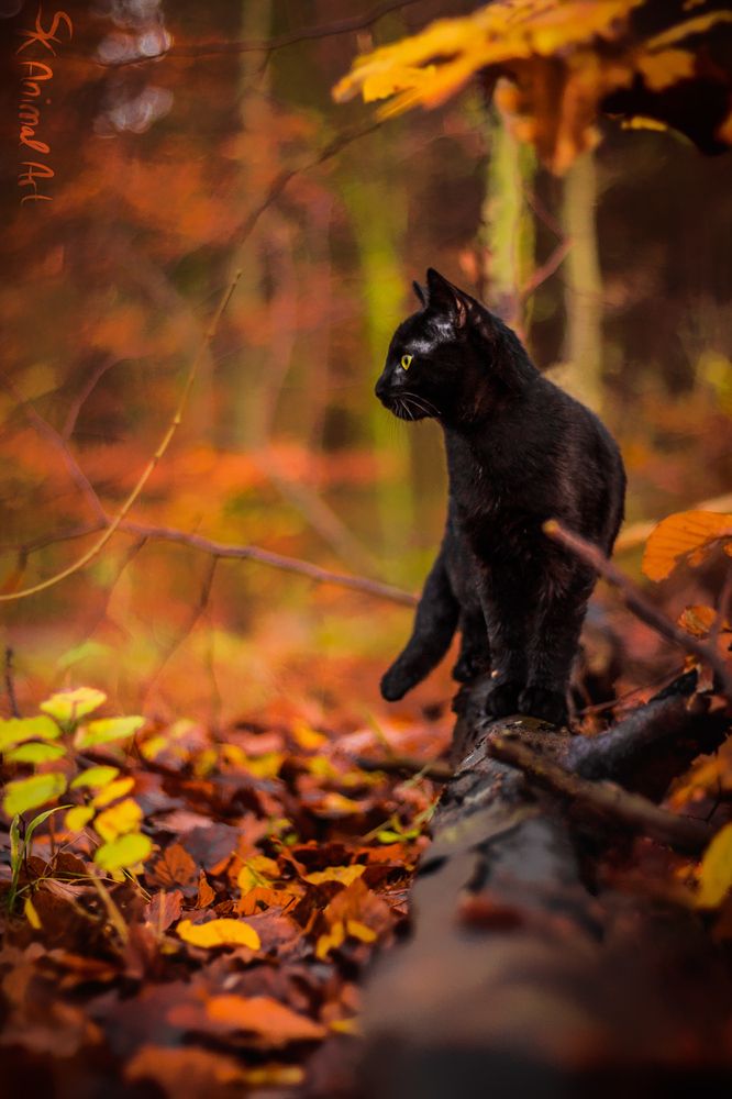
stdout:
{"type": "MultiPolygon", "coordinates": [[[[426,266],[481,296],[600,412],[625,457],[629,524],[729,491],[729,157],[606,121],[556,178],[476,87],[380,124],[332,101],[356,53],[474,7],[380,4],[369,19],[365,0],[73,2],[74,36],[59,25],[52,55],[16,53],[36,5],[1,0],[3,591],[98,537],[79,470],[119,510],[235,268],[133,523],[417,590],[444,517],[440,431],[398,423],[373,386],[426,266]],[[21,204],[31,56],[53,68],[37,137],[55,175],[40,180],[51,201],[21,204]]],[[[626,540],[623,567],[640,548],[626,540]]],[[[125,530],[89,567],[5,603],[1,640],[23,710],[87,682],[162,720],[215,726],[264,707],[363,720],[410,617],[125,530]]],[[[652,644],[644,634],[631,657],[652,644]]],[[[403,711],[444,701],[447,669],[403,711]]]]}

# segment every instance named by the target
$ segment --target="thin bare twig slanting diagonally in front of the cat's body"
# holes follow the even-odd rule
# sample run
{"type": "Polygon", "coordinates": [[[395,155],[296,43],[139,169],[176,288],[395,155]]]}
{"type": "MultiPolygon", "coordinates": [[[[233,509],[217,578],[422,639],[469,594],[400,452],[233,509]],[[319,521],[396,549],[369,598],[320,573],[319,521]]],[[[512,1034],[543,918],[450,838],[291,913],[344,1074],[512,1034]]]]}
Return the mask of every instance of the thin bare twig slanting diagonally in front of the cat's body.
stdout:
{"type": "Polygon", "coordinates": [[[596,545],[592,545],[591,542],[587,542],[578,534],[567,531],[554,519],[544,523],[544,532],[556,542],[559,542],[561,545],[566,546],[567,550],[572,550],[573,553],[577,554],[578,557],[599,573],[600,576],[605,577],[609,584],[618,588],[628,609],[642,622],[645,622],[652,630],[659,633],[662,637],[674,642],[674,644],[684,648],[687,653],[691,653],[700,660],[706,660],[713,668],[722,691],[732,700],[732,676],[719,652],[708,643],[699,641],[698,637],[694,637],[690,633],[686,633],[685,630],[681,630],[670,619],[666,618],[663,611],[657,610],[645,598],[641,589],[624,573],[621,573],[612,562],[608,560],[605,554],[596,545]]]}

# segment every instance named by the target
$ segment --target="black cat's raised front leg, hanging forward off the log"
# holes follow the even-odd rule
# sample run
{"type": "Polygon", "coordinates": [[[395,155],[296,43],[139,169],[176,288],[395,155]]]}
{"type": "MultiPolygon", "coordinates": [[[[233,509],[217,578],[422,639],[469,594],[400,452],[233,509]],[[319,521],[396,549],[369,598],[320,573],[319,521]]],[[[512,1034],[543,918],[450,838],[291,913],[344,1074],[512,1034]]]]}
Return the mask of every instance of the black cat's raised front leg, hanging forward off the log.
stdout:
{"type": "Polygon", "coordinates": [[[396,702],[432,671],[450,647],[458,612],[441,550],[424,581],[412,635],[381,679],[382,698],[396,702]]]}

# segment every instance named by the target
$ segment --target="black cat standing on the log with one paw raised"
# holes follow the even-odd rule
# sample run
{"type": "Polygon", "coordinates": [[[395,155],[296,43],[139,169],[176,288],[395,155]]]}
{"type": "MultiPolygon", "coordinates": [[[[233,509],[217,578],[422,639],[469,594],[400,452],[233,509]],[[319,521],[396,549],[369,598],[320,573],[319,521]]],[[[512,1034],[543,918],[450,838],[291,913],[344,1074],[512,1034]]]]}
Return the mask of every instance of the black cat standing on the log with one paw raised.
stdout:
{"type": "Polygon", "coordinates": [[[450,501],[406,648],[381,680],[393,701],[462,631],[453,675],[490,669],[486,712],[566,720],[566,690],[597,579],[542,531],[558,519],[609,554],[623,518],[618,447],[589,409],[544,378],[518,336],[430,268],[422,309],[397,329],[376,396],[443,428],[450,501]]]}

